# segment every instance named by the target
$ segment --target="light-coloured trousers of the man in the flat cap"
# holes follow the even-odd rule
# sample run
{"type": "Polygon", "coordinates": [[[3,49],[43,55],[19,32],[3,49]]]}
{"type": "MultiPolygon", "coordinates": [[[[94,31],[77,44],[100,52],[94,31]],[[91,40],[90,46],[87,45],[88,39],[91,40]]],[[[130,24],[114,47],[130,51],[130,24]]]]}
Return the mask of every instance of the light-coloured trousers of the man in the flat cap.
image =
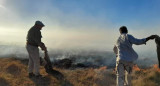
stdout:
{"type": "Polygon", "coordinates": [[[26,45],[26,49],[29,54],[28,72],[34,71],[35,75],[38,75],[40,67],[39,49],[31,45],[26,45]]]}

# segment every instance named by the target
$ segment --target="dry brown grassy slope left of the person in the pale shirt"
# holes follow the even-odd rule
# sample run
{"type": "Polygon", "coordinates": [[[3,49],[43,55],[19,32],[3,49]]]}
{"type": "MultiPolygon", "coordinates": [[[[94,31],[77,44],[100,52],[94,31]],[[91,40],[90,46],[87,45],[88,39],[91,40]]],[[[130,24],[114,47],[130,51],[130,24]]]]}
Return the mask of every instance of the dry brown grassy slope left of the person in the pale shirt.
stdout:
{"type": "Polygon", "coordinates": [[[115,75],[102,69],[58,69],[65,80],[58,80],[45,73],[43,67],[40,72],[44,78],[28,78],[27,65],[14,58],[0,58],[0,86],[115,86],[115,75]]]}

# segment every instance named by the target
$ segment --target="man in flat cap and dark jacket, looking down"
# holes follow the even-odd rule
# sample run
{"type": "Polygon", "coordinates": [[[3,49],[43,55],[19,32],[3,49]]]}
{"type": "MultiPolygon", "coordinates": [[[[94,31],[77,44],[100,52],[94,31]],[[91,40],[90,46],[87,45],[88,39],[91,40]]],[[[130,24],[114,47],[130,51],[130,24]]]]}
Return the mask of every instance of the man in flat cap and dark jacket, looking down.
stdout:
{"type": "Polygon", "coordinates": [[[27,34],[26,49],[29,54],[28,73],[30,78],[33,76],[42,76],[39,73],[40,57],[38,47],[40,47],[43,51],[46,51],[45,44],[41,41],[41,30],[43,27],[44,24],[41,21],[36,21],[35,25],[30,28],[27,34]]]}

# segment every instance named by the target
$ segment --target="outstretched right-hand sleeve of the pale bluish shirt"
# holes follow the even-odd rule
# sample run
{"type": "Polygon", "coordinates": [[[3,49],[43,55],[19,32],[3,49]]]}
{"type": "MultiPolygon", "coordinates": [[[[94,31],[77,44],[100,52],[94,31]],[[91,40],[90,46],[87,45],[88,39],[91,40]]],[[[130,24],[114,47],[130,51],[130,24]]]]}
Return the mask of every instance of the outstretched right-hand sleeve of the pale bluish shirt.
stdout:
{"type": "Polygon", "coordinates": [[[136,45],[141,45],[141,44],[146,43],[146,38],[137,39],[137,38],[133,37],[132,35],[128,35],[128,39],[129,39],[129,42],[131,42],[132,44],[136,44],[136,45]]]}

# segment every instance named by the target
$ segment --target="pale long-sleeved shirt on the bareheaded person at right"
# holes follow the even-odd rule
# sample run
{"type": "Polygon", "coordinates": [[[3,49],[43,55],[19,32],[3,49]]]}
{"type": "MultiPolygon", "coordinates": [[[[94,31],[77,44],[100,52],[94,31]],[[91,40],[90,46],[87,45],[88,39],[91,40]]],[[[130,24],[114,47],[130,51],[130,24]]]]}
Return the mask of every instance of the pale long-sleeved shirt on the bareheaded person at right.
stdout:
{"type": "Polygon", "coordinates": [[[137,39],[130,34],[121,34],[114,47],[117,54],[117,61],[124,60],[133,62],[138,58],[138,54],[132,48],[133,44],[141,45],[146,43],[146,38],[137,39]]]}

